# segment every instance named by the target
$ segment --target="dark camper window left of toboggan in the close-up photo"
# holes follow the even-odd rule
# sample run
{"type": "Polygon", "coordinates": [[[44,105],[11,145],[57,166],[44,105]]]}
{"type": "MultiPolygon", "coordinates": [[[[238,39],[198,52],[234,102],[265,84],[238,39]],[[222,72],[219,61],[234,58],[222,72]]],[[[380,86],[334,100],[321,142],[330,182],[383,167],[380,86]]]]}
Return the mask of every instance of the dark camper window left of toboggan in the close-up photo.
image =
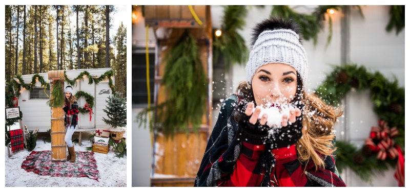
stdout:
{"type": "MultiPolygon", "coordinates": [[[[132,105],[134,107],[146,107],[148,105],[147,92],[147,60],[144,49],[134,49],[132,53],[132,105]]],[[[151,47],[150,47],[151,48],[151,47]]],[[[149,49],[150,62],[150,92],[151,103],[154,102],[154,72],[155,54],[154,49],[149,49]]]]}

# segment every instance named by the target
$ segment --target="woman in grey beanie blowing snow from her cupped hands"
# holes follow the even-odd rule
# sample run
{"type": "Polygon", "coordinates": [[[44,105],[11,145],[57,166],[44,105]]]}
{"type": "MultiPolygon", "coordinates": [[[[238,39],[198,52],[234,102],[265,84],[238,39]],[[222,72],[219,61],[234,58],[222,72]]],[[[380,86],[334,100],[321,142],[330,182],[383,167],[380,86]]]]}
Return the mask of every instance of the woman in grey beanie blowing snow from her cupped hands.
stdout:
{"type": "Polygon", "coordinates": [[[194,186],[346,186],[334,157],[342,112],[305,92],[301,39],[292,19],[253,29],[247,82],[222,104],[194,186]]]}

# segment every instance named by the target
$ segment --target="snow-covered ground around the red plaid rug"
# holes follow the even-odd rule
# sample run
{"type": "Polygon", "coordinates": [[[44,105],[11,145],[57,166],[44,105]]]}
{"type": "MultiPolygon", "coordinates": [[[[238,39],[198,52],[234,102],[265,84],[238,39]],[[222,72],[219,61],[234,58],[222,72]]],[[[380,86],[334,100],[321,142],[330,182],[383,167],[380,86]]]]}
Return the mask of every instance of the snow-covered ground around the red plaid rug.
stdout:
{"type": "MultiPolygon", "coordinates": [[[[51,143],[44,143],[43,137],[48,133],[39,133],[37,144],[33,151],[51,150],[51,143]]],[[[81,135],[81,146],[75,143],[75,151],[87,151],[86,147],[91,147],[88,134],[81,135]]],[[[76,139],[76,134],[73,136],[76,139]]],[[[10,149],[11,152],[11,149],[10,149]]],[[[95,160],[99,171],[99,182],[88,177],[51,177],[40,176],[33,172],[27,173],[21,168],[22,163],[31,152],[26,149],[7,155],[5,147],[5,186],[27,186],[27,187],[126,187],[127,186],[127,156],[124,158],[115,157],[114,152],[108,154],[94,152],[95,160]]],[[[67,161],[67,163],[70,163],[67,161]]]]}

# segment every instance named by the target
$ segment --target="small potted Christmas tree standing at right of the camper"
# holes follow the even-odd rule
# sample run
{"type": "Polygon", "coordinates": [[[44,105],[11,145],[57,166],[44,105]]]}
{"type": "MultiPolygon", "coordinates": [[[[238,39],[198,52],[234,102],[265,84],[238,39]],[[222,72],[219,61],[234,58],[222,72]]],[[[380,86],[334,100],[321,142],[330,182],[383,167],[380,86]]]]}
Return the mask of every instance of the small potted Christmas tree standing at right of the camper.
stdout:
{"type": "Polygon", "coordinates": [[[103,109],[106,112],[108,119],[103,117],[103,121],[110,125],[110,135],[114,140],[121,140],[126,131],[127,119],[127,99],[114,96],[108,97],[107,107],[103,109]]]}

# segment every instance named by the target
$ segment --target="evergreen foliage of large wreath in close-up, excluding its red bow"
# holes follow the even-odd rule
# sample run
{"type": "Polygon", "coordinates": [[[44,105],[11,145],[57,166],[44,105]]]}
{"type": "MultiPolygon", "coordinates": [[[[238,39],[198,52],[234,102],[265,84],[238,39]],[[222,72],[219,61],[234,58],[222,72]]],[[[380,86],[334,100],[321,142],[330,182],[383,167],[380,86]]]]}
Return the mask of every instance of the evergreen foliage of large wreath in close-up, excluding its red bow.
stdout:
{"type": "MultiPolygon", "coordinates": [[[[328,105],[336,106],[348,92],[370,89],[374,112],[389,127],[397,127],[399,135],[394,137],[394,143],[404,154],[404,88],[398,86],[397,79],[390,82],[378,71],[370,73],[365,67],[356,64],[333,67],[332,73],[315,90],[316,94],[328,105]]],[[[383,173],[397,163],[397,159],[377,159],[377,154],[369,153],[365,145],[357,149],[350,143],[338,140],[336,147],[336,166],[339,171],[348,167],[363,181],[371,182],[372,175],[383,173]]]]}

